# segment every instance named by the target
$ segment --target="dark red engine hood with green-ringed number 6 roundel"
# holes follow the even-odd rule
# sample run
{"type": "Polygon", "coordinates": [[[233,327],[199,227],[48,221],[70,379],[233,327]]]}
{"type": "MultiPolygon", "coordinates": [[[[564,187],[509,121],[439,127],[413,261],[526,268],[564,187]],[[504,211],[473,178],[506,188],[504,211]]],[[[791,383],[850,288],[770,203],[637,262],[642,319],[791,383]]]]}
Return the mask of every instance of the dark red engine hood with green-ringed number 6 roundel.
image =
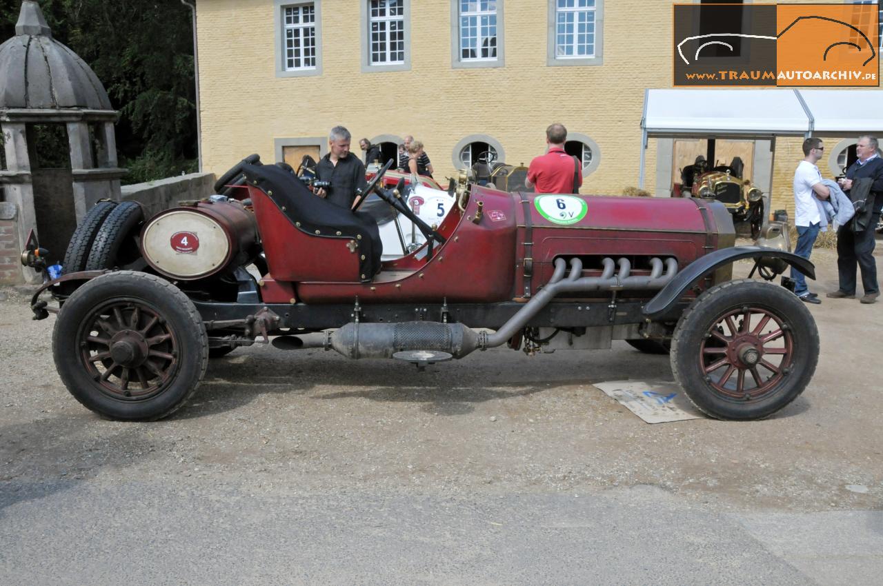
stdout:
{"type": "MultiPolygon", "coordinates": [[[[736,242],[727,208],[716,201],[517,193],[517,290],[525,297],[551,278],[556,258],[578,257],[584,276],[605,257],[630,259],[632,274],[651,259],[693,260],[736,242]]],[[[721,275],[722,277],[723,275],[721,275]]]]}

